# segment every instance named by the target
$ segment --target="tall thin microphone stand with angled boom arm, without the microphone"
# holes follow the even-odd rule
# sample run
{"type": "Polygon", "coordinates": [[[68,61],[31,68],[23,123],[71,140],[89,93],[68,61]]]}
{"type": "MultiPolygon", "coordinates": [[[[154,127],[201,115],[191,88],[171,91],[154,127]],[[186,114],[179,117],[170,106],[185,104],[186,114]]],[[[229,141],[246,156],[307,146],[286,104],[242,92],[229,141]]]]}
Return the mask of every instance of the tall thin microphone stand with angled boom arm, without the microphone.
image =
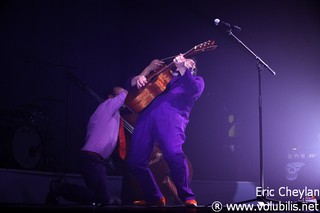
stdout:
{"type": "MultiPolygon", "coordinates": [[[[257,56],[249,47],[247,47],[238,37],[236,37],[233,33],[232,33],[232,29],[228,29],[227,30],[229,36],[232,36],[234,39],[237,40],[237,42],[239,44],[241,44],[247,51],[249,51],[251,53],[251,55],[256,59],[257,61],[257,69],[258,69],[258,87],[259,87],[259,151],[260,151],[260,182],[259,182],[259,186],[261,187],[262,192],[264,192],[263,190],[265,189],[265,185],[264,185],[264,169],[263,169],[263,143],[262,143],[262,92],[261,92],[261,72],[264,68],[267,68],[267,70],[273,74],[276,75],[276,72],[273,71],[259,56],[257,56]]],[[[262,193],[262,196],[257,196],[254,199],[251,200],[247,200],[247,201],[242,201],[242,202],[238,202],[240,203],[249,203],[249,202],[253,202],[253,201],[260,201],[263,203],[267,203],[267,201],[273,201],[272,199],[267,198],[267,196],[265,195],[267,193],[262,193]]],[[[276,201],[278,202],[278,201],[276,201]]]]}

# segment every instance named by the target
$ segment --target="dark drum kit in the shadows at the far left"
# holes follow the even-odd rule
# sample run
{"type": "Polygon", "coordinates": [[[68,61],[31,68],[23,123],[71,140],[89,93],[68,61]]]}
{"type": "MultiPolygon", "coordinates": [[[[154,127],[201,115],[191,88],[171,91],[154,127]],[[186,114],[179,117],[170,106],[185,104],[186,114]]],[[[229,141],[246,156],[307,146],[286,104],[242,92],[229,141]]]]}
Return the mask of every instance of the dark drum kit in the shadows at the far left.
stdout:
{"type": "Polygon", "coordinates": [[[43,159],[49,118],[42,107],[0,111],[0,167],[36,169],[43,159]]]}

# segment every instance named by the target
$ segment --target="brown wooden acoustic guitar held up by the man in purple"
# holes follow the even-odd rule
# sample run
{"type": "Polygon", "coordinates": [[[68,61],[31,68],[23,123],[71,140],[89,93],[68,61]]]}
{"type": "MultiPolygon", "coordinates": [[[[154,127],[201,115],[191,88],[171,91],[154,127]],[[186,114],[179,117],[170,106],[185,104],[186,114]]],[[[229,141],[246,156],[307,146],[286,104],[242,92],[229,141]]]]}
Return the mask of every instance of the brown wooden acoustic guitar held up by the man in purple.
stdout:
{"type": "MultiPolygon", "coordinates": [[[[209,40],[198,44],[184,53],[184,57],[189,57],[197,53],[204,51],[214,50],[217,47],[213,40],[209,40]]],[[[174,63],[171,62],[168,65],[163,65],[157,70],[150,72],[146,76],[148,83],[138,89],[132,88],[124,101],[126,107],[133,113],[140,113],[144,110],[158,95],[160,95],[167,87],[167,84],[172,79],[171,68],[174,63]]]]}

